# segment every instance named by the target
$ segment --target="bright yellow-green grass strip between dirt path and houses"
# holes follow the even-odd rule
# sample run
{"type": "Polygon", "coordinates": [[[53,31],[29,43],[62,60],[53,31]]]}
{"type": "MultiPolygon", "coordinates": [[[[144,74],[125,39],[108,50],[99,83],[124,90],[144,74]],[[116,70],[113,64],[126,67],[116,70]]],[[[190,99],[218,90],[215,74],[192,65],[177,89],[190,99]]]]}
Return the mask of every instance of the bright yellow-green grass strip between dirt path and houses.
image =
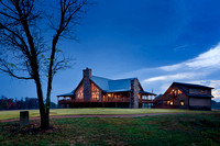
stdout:
{"type": "MultiPolygon", "coordinates": [[[[38,110],[29,110],[30,116],[40,116],[38,110]]],[[[216,113],[220,111],[191,111],[177,109],[54,109],[51,115],[76,114],[142,114],[142,113],[216,113]]],[[[0,111],[0,120],[19,119],[20,111],[0,111]]]]}

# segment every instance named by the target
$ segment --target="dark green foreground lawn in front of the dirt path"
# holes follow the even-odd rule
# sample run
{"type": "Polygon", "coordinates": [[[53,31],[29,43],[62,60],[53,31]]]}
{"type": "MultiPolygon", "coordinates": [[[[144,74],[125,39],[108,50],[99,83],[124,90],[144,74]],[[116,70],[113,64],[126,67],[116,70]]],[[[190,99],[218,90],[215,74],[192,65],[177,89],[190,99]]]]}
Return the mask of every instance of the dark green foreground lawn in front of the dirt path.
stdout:
{"type": "Polygon", "coordinates": [[[38,121],[20,127],[0,124],[0,145],[212,145],[220,144],[220,114],[178,114],[144,117],[80,117],[38,121]]]}

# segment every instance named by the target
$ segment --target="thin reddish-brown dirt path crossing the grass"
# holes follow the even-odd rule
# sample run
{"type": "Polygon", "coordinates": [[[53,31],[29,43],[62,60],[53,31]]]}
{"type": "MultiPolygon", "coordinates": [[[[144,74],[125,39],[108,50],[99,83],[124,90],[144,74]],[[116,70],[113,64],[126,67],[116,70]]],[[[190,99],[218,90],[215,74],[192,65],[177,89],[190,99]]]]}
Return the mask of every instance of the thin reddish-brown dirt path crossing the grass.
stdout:
{"type": "MultiPolygon", "coordinates": [[[[189,113],[146,113],[146,114],[78,114],[78,115],[51,115],[50,119],[73,119],[73,117],[139,117],[164,114],[189,114],[189,113]]],[[[30,117],[30,120],[40,120],[40,117],[30,117]]],[[[20,121],[20,119],[0,120],[0,123],[20,121]]]]}

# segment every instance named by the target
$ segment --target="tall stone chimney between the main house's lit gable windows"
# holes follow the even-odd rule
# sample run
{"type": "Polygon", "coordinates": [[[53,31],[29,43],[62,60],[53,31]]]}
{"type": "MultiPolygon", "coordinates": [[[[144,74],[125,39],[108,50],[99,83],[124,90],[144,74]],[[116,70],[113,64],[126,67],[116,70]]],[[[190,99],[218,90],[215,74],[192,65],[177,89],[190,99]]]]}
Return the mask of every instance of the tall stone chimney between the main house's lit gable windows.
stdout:
{"type": "Polygon", "coordinates": [[[84,69],[84,99],[90,99],[90,79],[91,78],[91,69],[88,67],[84,69]]]}

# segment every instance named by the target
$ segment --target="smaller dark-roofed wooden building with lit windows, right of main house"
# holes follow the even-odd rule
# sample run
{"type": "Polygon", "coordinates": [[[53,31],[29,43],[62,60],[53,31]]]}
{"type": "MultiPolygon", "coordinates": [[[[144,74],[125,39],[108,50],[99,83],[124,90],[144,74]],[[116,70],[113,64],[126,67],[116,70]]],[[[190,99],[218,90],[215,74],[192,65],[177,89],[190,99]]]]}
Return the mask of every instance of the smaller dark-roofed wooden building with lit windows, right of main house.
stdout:
{"type": "Polygon", "coordinates": [[[173,82],[155,99],[155,108],[211,110],[211,87],[173,82]]]}

